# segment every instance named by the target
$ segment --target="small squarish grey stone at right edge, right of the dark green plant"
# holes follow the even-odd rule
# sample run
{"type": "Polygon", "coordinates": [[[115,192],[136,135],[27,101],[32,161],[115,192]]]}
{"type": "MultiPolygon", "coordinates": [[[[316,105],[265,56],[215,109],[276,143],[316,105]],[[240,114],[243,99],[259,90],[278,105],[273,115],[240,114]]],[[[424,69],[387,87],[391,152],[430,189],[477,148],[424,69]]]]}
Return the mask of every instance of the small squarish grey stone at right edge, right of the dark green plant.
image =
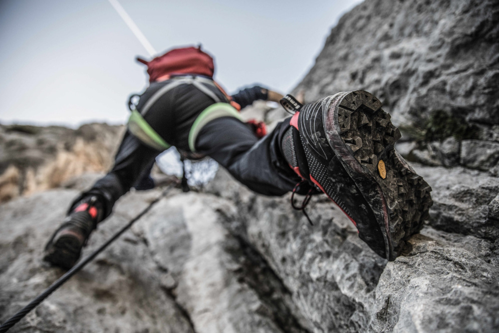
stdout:
{"type": "Polygon", "coordinates": [[[461,164],[472,169],[487,171],[499,163],[499,143],[482,140],[463,140],[461,164]]]}

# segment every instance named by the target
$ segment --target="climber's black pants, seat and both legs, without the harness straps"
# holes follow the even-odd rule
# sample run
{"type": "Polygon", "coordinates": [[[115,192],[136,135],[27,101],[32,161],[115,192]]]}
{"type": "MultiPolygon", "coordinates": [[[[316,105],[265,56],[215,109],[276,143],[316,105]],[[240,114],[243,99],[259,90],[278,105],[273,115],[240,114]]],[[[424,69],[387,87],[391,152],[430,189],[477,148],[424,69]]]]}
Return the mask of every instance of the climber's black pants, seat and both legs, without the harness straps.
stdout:
{"type": "MultiPolygon", "coordinates": [[[[170,83],[170,80],[152,83],[141,95],[137,110],[143,112],[145,121],[167,143],[180,150],[189,150],[189,132],[198,116],[214,104],[212,94],[223,100],[223,93],[207,85],[212,94],[206,94],[193,84],[180,84],[160,97],[155,94],[170,83]],[[153,101],[148,109],[146,105],[153,101]]],[[[261,88],[260,88],[261,90],[261,88]]],[[[260,98],[256,93],[246,98],[236,98],[244,105],[251,99],[260,98]]],[[[258,139],[250,127],[234,117],[222,117],[204,125],[195,142],[197,152],[206,154],[226,168],[237,180],[251,190],[263,195],[283,195],[293,190],[300,178],[288,166],[280,151],[280,142],[289,119],[279,123],[265,137],[258,139]]],[[[150,174],[155,158],[161,151],[144,144],[130,132],[126,132],[116,153],[111,171],[99,179],[90,190],[81,194],[73,206],[85,196],[96,195],[103,203],[104,217],[130,188],[140,188],[150,174]]]]}

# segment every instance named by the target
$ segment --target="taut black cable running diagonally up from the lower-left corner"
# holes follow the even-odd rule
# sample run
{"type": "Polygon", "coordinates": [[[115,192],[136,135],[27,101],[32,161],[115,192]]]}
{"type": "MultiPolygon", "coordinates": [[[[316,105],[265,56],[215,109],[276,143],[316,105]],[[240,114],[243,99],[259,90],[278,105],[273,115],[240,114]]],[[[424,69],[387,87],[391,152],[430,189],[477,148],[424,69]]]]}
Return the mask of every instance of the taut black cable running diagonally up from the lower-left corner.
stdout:
{"type": "Polygon", "coordinates": [[[152,201],[149,206],[147,206],[142,212],[139,213],[136,217],[134,217],[126,226],[121,228],[120,231],[118,231],[111,239],[109,239],[106,243],[102,244],[97,250],[95,250],[92,254],[90,254],[88,257],[84,258],[81,262],[79,262],[76,266],[73,266],[69,271],[66,272],[63,276],[61,276],[57,281],[55,281],[50,287],[48,287],[43,293],[38,295],[37,298],[35,298],[33,301],[31,301],[27,306],[22,308],[19,312],[17,312],[14,316],[12,316],[9,320],[7,320],[5,323],[0,325],[0,333],[7,332],[12,326],[17,324],[24,316],[26,316],[31,310],[33,310],[36,306],[38,306],[43,300],[45,300],[50,294],[52,294],[57,288],[62,286],[69,278],[71,278],[73,275],[75,275],[79,270],[81,270],[89,261],[95,258],[99,253],[101,253],[105,248],[109,246],[112,242],[114,242],[118,237],[121,236],[127,229],[129,229],[132,224],[134,224],[138,219],[140,219],[142,216],[144,216],[149,210],[153,207],[154,204],[156,204],[158,201],[160,201],[168,192],[170,189],[166,189],[161,193],[161,195],[156,198],[154,201],[152,201]]]}

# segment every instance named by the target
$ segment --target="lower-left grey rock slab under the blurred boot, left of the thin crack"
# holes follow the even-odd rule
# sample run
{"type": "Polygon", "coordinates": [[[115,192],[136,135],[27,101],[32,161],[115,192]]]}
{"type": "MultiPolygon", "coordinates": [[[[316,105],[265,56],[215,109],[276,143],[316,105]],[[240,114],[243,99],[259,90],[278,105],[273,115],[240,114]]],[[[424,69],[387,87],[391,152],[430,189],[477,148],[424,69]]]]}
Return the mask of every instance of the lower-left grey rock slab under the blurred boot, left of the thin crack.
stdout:
{"type": "MultiPolygon", "coordinates": [[[[154,193],[158,195],[158,193],[154,193]]],[[[53,190],[0,208],[0,317],[4,322],[63,273],[41,261],[42,249],[62,221],[73,190],[53,190]]],[[[88,254],[145,207],[152,194],[124,198],[88,254]]],[[[127,233],[18,323],[11,332],[194,332],[165,293],[149,250],[127,233]]]]}

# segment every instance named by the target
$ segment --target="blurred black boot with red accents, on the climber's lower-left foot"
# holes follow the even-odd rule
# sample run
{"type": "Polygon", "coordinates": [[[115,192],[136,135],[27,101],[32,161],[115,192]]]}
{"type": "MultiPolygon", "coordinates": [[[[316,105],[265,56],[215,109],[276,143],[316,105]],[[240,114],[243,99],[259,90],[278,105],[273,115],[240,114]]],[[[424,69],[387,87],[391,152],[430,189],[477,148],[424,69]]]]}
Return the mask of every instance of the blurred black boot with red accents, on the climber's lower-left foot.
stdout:
{"type": "Polygon", "coordinates": [[[102,204],[97,201],[97,197],[82,199],[48,241],[43,260],[65,269],[73,267],[100,221],[102,212],[102,204]]]}

